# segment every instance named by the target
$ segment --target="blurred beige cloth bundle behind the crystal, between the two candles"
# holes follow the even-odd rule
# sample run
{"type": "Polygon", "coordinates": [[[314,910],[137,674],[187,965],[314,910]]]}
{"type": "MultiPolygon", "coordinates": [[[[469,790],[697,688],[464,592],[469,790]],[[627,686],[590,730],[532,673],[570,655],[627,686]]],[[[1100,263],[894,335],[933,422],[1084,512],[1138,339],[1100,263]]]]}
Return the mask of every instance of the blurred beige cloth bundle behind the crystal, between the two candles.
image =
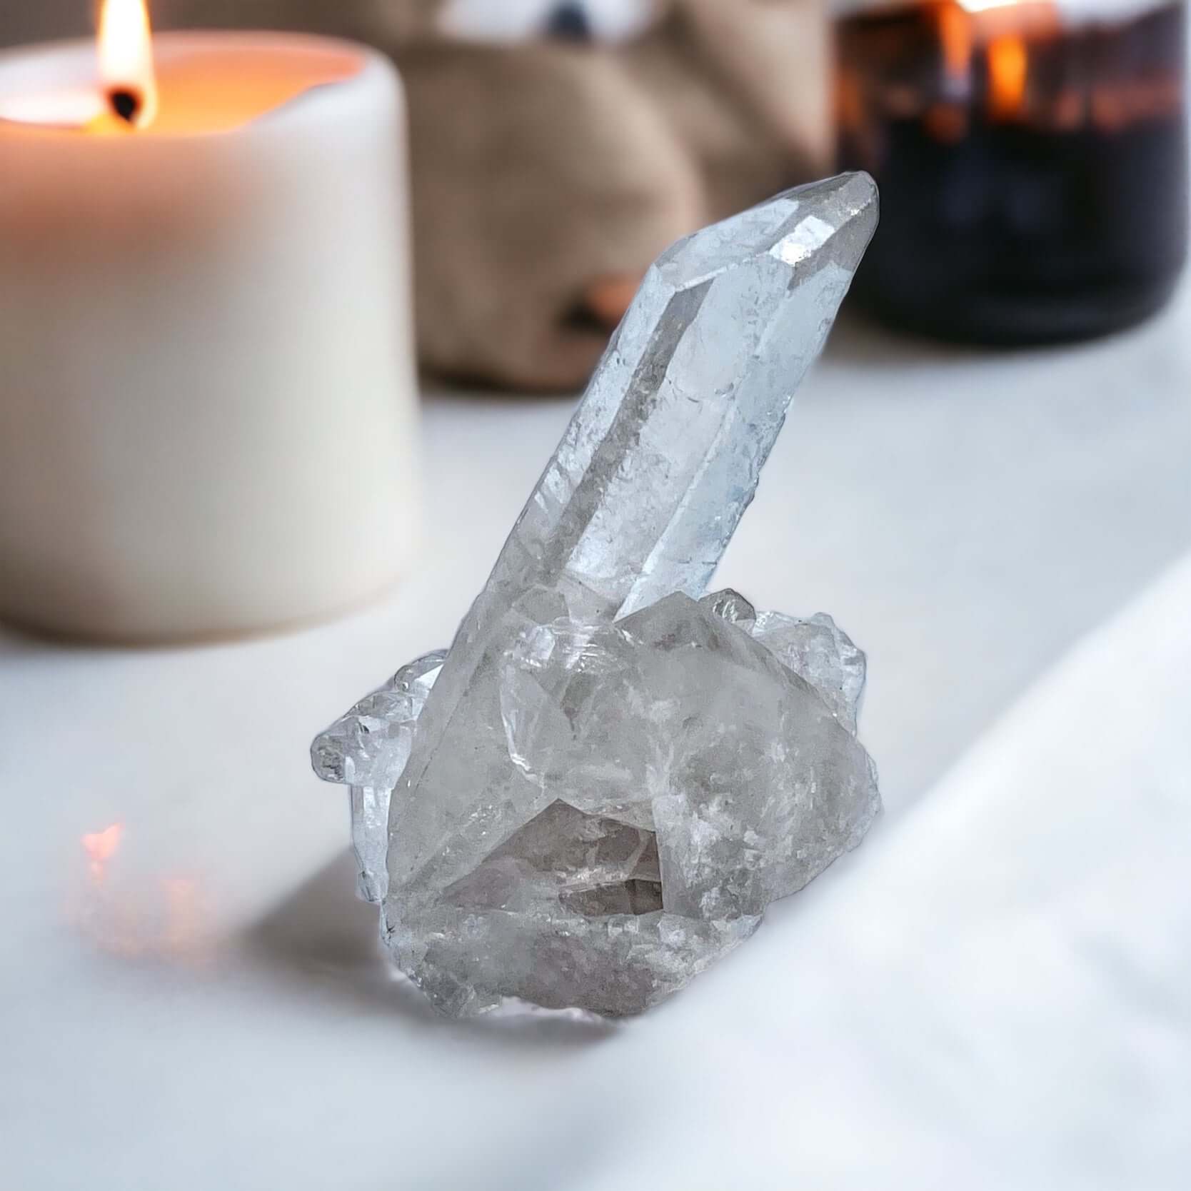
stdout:
{"type": "Polygon", "coordinates": [[[418,351],[528,389],[582,382],[649,262],[822,173],[818,0],[668,0],[616,45],[463,42],[443,0],[161,0],[161,25],[370,42],[405,77],[418,351]]]}

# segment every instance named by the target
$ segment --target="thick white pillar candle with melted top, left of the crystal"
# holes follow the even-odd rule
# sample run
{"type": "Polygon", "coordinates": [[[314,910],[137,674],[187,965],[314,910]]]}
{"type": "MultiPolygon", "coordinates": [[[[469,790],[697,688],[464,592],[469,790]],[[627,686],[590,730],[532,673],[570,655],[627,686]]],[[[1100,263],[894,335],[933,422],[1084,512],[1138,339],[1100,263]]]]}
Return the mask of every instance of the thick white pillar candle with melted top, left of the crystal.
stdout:
{"type": "Polygon", "coordinates": [[[93,45],[0,55],[0,616],[325,616],[414,537],[398,80],[300,36],[154,49],[138,129],[99,114],[93,45]]]}

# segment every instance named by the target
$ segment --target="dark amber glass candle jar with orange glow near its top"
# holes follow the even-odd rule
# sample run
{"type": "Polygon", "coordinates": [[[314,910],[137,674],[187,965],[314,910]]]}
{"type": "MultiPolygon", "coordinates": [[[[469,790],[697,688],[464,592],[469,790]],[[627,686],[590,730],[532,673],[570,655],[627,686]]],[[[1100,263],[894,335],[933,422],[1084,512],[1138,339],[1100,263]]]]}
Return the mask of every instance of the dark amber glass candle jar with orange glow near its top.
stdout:
{"type": "Polygon", "coordinates": [[[1004,344],[1161,306],[1187,241],[1184,14],[929,0],[841,18],[840,164],[881,188],[858,304],[1004,344]]]}

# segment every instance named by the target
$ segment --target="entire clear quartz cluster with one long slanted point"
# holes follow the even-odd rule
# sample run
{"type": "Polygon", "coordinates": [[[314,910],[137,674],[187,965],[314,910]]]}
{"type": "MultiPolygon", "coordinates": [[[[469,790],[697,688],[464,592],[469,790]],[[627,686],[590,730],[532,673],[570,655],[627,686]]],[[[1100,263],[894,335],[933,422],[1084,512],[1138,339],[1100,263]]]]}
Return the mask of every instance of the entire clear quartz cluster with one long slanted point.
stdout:
{"type": "Polygon", "coordinates": [[[878,812],[863,654],[705,594],[875,224],[847,174],[665,252],[450,650],[314,741],[360,892],[444,1012],[638,1012],[878,812]]]}

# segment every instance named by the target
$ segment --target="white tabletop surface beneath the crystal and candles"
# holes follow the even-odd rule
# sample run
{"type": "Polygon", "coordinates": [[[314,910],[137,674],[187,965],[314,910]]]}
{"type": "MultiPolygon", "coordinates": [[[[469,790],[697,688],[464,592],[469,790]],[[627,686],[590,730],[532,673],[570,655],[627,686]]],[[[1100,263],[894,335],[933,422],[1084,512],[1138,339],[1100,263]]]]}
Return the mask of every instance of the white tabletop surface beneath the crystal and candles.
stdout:
{"type": "Polygon", "coordinates": [[[721,578],[868,649],[888,813],[617,1029],[450,1024],[392,985],[306,762],[449,640],[569,403],[431,398],[422,566],[354,617],[5,636],[0,1185],[1185,1185],[1191,575],[1141,593],[1191,551],[1189,332],[1186,289],[1055,351],[838,329],[721,578]]]}

